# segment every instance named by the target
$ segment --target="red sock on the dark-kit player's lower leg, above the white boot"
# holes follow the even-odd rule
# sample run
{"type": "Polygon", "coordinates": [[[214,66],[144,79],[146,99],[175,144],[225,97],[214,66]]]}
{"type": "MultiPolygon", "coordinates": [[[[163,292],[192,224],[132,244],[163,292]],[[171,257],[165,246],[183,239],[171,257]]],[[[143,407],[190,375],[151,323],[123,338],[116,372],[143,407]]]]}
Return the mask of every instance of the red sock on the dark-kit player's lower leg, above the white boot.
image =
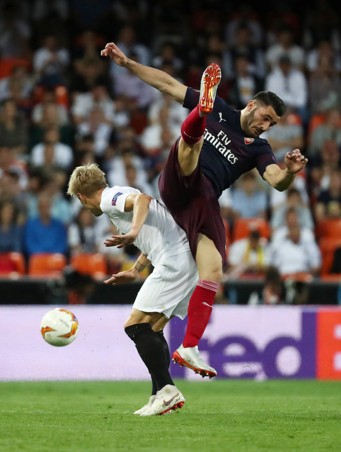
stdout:
{"type": "Polygon", "coordinates": [[[219,283],[199,279],[188,305],[188,320],[184,347],[195,347],[199,344],[212,312],[214,297],[219,283]]]}

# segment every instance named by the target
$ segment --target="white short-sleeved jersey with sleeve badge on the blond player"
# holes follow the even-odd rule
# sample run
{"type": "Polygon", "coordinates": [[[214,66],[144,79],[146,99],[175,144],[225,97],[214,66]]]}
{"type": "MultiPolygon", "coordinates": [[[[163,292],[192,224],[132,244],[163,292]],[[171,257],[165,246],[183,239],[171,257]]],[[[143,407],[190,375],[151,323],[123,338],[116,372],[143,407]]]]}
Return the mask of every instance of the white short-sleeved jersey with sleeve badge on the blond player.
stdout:
{"type": "MultiPolygon", "coordinates": [[[[132,228],[133,212],[125,212],[126,198],[132,193],[141,193],[132,187],[104,188],[100,208],[106,213],[120,234],[132,228]]],[[[190,252],[186,233],[178,226],[169,211],[152,198],[149,213],[134,245],[147,255],[155,267],[160,260],[180,253],[190,252]]]]}

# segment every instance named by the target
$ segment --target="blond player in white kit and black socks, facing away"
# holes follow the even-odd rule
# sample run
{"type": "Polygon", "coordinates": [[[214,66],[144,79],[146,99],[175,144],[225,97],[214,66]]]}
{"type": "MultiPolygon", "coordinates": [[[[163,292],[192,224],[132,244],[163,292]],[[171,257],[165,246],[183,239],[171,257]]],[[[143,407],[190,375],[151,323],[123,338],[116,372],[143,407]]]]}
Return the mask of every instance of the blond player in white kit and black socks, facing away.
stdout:
{"type": "MultiPolygon", "coordinates": [[[[106,213],[115,224],[121,235],[106,239],[106,246],[122,248],[134,243],[142,252],[130,270],[113,275],[104,281],[106,284],[133,281],[150,263],[154,267],[125,323],[125,331],[134,341],[153,383],[149,403],[135,414],[164,414],[181,408],[185,399],[169,374],[170,353],[163,328],[174,315],[185,318],[198,281],[185,232],[151,196],[132,187],[109,188],[104,173],[93,163],[74,169],[67,193],[77,196],[94,215],[106,213]]],[[[202,367],[215,372],[204,362],[202,367]]]]}

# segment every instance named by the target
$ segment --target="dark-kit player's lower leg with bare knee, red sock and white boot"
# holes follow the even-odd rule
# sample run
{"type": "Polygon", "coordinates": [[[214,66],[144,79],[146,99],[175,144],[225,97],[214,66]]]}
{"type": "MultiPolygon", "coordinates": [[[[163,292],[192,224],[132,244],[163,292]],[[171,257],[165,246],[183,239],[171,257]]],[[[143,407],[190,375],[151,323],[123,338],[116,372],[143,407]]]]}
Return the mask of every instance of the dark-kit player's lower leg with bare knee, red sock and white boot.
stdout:
{"type": "Polygon", "coordinates": [[[196,250],[199,281],[188,305],[187,328],[183,343],[173,353],[173,360],[202,377],[216,376],[216,370],[200,357],[198,344],[209,321],[215,294],[222,276],[221,255],[214,242],[200,234],[196,250]]]}

